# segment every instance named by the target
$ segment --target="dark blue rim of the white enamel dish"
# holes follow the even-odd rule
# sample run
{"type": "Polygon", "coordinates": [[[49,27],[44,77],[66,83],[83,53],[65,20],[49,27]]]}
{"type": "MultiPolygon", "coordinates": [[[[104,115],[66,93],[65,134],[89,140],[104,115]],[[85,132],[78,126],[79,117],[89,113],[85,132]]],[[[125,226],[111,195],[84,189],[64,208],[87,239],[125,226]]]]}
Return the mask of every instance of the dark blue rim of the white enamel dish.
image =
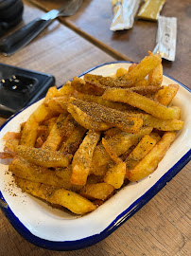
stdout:
{"type": "MultiPolygon", "coordinates": [[[[82,73],[79,77],[85,75],[86,73],[89,73],[90,71],[95,70],[97,67],[101,67],[103,65],[107,64],[117,64],[117,63],[131,63],[126,61],[118,61],[118,62],[112,62],[112,63],[106,63],[106,64],[100,64],[97,65],[86,72],[82,73]]],[[[165,75],[165,74],[164,74],[165,75]]],[[[165,75],[166,77],[170,78],[171,80],[178,82],[177,80],[171,78],[170,76],[165,75]]],[[[183,85],[181,82],[178,82],[182,85],[186,90],[191,92],[189,88],[187,88],[185,85],[183,85]]],[[[24,108],[23,110],[25,110],[24,108]]],[[[22,112],[21,110],[20,112],[22,112]]],[[[13,119],[15,116],[17,116],[20,112],[16,113],[14,116],[10,117],[10,119],[13,119]]],[[[9,119],[9,120],[10,120],[9,119]]],[[[0,131],[2,128],[9,122],[7,120],[0,128],[0,131]]],[[[5,198],[3,197],[2,192],[0,192],[0,199],[3,201],[1,206],[1,209],[5,213],[6,217],[8,218],[10,224],[14,229],[17,230],[17,232],[22,235],[28,242],[38,246],[43,247],[46,249],[51,250],[76,250],[79,248],[84,247],[90,247],[95,245],[96,243],[100,242],[101,240],[105,239],[107,236],[109,236],[115,229],[118,229],[125,221],[130,219],[130,217],[137,211],[140,210],[145,204],[148,203],[148,201],[157,193],[160,192],[166,185],[167,182],[169,182],[176,174],[178,174],[182,168],[191,160],[191,150],[189,150],[185,155],[182,156],[182,158],[173,166],[171,167],[167,173],[165,173],[145,194],[143,194],[141,197],[139,197],[134,203],[130,205],[130,207],[127,210],[124,210],[121,212],[114,220],[113,222],[103,231],[101,231],[98,234],[95,234],[93,236],[85,237],[83,239],[79,239],[76,241],[63,241],[63,242],[55,242],[55,241],[48,241],[44,240],[40,237],[37,237],[33,235],[26,227],[22,224],[22,222],[14,215],[12,210],[10,210],[9,205],[7,204],[5,198]]]]}

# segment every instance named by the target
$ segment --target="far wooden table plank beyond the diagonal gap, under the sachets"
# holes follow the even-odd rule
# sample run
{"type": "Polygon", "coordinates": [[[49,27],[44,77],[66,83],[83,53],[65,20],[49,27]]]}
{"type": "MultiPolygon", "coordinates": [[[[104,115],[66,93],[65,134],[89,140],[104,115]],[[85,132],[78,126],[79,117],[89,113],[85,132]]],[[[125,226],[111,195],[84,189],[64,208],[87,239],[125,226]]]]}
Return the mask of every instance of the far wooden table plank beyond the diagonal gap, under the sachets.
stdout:
{"type": "MultiPolygon", "coordinates": [[[[62,0],[31,0],[43,9],[53,9],[61,5],[62,0]]],[[[78,31],[96,46],[108,46],[111,54],[114,53],[117,59],[130,59],[133,62],[140,62],[148,50],[156,46],[157,23],[143,20],[135,20],[130,30],[111,31],[110,26],[113,19],[111,0],[84,0],[79,11],[68,18],[61,18],[61,21],[68,27],[78,31]],[[118,55],[117,55],[118,53],[118,55]],[[124,57],[125,55],[125,57],[124,57]]],[[[191,4],[189,0],[165,1],[161,15],[178,18],[178,35],[176,48],[176,61],[163,61],[165,74],[190,85],[191,75],[191,4]]]]}

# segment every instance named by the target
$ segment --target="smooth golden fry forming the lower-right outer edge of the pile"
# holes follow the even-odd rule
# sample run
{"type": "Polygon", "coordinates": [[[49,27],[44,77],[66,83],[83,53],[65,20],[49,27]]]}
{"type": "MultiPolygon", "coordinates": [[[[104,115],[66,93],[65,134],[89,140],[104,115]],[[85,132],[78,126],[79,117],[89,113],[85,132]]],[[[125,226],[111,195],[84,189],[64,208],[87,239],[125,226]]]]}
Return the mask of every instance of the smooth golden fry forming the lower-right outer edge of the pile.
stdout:
{"type": "Polygon", "coordinates": [[[153,173],[158,167],[159,162],[176,137],[175,133],[166,132],[162,139],[132,170],[128,170],[127,176],[130,181],[140,180],[153,173]]]}

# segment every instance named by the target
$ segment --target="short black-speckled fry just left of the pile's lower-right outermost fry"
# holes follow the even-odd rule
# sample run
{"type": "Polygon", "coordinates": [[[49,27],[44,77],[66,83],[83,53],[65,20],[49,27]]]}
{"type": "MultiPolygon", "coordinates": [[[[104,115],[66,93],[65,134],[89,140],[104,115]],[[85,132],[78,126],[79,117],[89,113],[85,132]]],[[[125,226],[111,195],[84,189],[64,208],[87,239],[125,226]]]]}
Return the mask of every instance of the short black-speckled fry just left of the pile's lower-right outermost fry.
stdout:
{"type": "Polygon", "coordinates": [[[148,135],[142,137],[130,155],[126,158],[128,170],[132,169],[142,158],[148,155],[148,152],[155,146],[157,141],[148,135]]]}

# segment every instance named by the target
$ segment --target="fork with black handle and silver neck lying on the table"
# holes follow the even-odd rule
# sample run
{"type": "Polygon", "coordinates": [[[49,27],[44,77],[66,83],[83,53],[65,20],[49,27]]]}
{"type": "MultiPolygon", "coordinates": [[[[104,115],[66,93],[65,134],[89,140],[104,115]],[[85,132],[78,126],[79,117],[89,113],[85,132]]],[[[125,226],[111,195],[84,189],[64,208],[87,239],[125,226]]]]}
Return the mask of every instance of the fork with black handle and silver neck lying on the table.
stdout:
{"type": "Polygon", "coordinates": [[[7,38],[0,40],[0,52],[9,56],[31,42],[43,28],[47,27],[54,19],[60,16],[71,16],[77,12],[83,0],[69,0],[60,9],[52,9],[41,18],[37,18],[26,26],[21,27],[7,38]]]}

